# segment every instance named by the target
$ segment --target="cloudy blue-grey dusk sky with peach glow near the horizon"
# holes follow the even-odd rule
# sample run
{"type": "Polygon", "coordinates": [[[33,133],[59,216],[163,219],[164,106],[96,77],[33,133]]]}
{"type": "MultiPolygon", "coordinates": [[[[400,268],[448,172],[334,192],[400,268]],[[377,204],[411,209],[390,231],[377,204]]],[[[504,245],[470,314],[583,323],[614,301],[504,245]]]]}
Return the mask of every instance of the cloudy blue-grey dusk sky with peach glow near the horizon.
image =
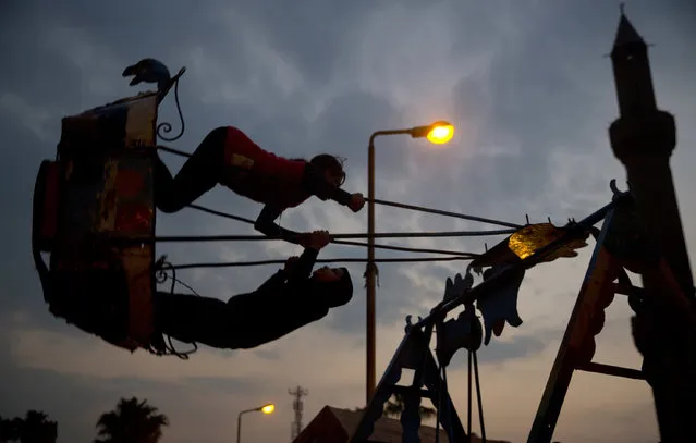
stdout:
{"type": "MultiPolygon", "coordinates": [[[[671,160],[687,244],[696,245],[696,3],[633,0],[626,14],[651,44],[658,104],[677,124],[671,160]]],[[[59,422],[59,442],[89,442],[99,415],[121,397],[147,398],[171,426],[163,442],[289,442],[288,390],[302,385],[304,423],[325,406],[365,401],[364,264],[350,263],[353,300],[327,318],[249,350],[202,346],[187,361],[134,354],[54,318],[30,257],[32,193],[40,161],[56,156],[61,118],[135,95],[123,69],[151,57],[172,73],[186,66],[180,100],[193,151],[208,131],[234,125],[280,156],[319,152],[347,159],[350,192],[367,193],[367,140],[374,131],[448,120],[456,135],[435,147],[407,136],[377,140],[377,197],[510,222],[582,219],[625,189],[608,127],[618,116],[610,59],[619,23],[610,0],[294,0],[49,1],[0,4],[0,174],[5,233],[0,274],[0,416],[40,409],[59,422]]],[[[173,94],[160,121],[179,130],[173,94]]],[[[167,145],[167,143],[164,143],[167,145]]],[[[182,159],[162,153],[178,171],[182,159]]],[[[255,218],[261,207],[218,187],[200,205],[255,218]]],[[[378,232],[489,230],[494,226],[377,207],[378,232]]],[[[366,232],[353,213],[313,198],[283,214],[297,231],[366,232]]],[[[158,235],[255,234],[253,227],[192,209],[158,213],[158,235]]],[[[502,237],[381,241],[481,253],[502,237]]],[[[594,243],[575,259],[527,272],[520,328],[506,327],[479,352],[487,435],[526,441],[594,243]]],[[[284,259],[301,248],[279,242],[161,244],[170,261],[284,259]]],[[[378,257],[413,257],[378,250],[378,257]]],[[[320,258],[364,258],[329,245],[320,258]]],[[[377,376],[403,335],[407,315],[425,316],[465,262],[381,263],[377,292],[377,376]]],[[[256,288],[278,266],[186,270],[199,294],[228,299],[256,288]]],[[[185,290],[181,290],[185,291],[185,290]]],[[[269,307],[271,309],[272,307],[269,307]]],[[[595,361],[639,368],[631,310],[616,296],[595,361]]],[[[186,345],[180,345],[185,348],[186,345]]],[[[448,379],[466,417],[466,355],[448,379]]],[[[473,431],[479,433],[476,413],[473,431]]],[[[555,430],[567,442],[657,442],[647,384],[577,372],[555,430]]]]}

